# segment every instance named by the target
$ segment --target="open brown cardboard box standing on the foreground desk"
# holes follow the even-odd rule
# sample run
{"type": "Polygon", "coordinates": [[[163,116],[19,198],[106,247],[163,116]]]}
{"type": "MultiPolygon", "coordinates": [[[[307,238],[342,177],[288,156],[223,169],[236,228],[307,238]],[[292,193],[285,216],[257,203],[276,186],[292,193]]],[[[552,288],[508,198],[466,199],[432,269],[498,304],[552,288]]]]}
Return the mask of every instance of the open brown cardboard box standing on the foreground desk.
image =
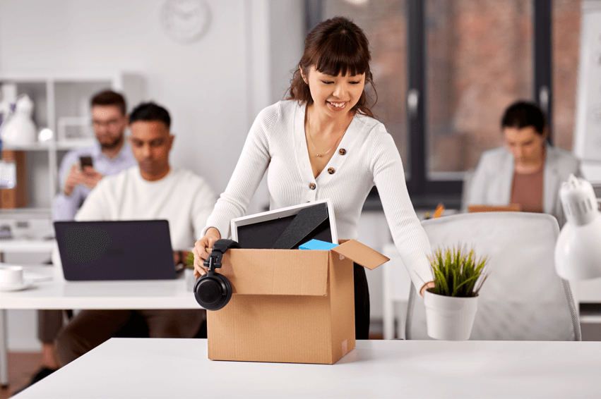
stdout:
{"type": "Polygon", "coordinates": [[[388,258],[355,240],[329,251],[229,250],[232,299],[207,312],[211,360],[333,364],[355,348],[353,261],[388,258]]]}

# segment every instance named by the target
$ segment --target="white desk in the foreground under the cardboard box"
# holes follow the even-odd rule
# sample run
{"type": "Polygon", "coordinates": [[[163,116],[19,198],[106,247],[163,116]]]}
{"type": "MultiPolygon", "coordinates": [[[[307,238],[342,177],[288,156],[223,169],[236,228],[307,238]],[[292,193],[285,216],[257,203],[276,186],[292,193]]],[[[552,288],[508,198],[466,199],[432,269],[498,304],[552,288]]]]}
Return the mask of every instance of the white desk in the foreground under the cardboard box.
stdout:
{"type": "Polygon", "coordinates": [[[26,398],[598,398],[601,342],[359,340],[338,363],[213,362],[206,340],[113,338],[26,398]]]}

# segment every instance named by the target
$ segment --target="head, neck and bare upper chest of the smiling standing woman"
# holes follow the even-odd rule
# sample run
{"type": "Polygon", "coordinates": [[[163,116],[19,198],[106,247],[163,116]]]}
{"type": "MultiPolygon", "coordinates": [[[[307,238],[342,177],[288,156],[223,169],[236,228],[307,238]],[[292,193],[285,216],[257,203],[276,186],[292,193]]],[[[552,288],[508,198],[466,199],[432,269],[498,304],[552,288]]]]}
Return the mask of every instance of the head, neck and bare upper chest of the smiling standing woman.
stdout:
{"type": "Polygon", "coordinates": [[[364,91],[366,82],[374,85],[367,37],[355,24],[331,21],[307,35],[289,89],[289,99],[307,104],[304,123],[309,156],[317,158],[311,159],[314,177],[332,158],[355,113],[374,116],[364,91]]]}

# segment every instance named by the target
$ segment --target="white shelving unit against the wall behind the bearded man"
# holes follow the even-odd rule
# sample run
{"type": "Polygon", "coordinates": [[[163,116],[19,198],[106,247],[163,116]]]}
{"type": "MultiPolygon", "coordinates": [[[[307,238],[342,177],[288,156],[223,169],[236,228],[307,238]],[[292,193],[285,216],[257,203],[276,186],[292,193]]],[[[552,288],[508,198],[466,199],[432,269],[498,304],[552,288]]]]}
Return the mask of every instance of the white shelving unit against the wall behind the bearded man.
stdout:
{"type": "Polygon", "coordinates": [[[92,145],[95,142],[91,124],[83,130],[83,137],[57,140],[61,118],[89,118],[90,98],[100,90],[112,89],[126,97],[129,106],[145,99],[145,85],[140,75],[133,73],[54,73],[0,75],[0,85],[16,85],[17,94],[28,94],[35,104],[33,120],[38,132],[49,128],[54,139],[31,145],[11,146],[4,149],[28,152],[27,207],[1,211],[3,216],[32,211],[47,214],[52,220],[52,202],[58,191],[58,169],[64,154],[70,149],[92,145]]]}

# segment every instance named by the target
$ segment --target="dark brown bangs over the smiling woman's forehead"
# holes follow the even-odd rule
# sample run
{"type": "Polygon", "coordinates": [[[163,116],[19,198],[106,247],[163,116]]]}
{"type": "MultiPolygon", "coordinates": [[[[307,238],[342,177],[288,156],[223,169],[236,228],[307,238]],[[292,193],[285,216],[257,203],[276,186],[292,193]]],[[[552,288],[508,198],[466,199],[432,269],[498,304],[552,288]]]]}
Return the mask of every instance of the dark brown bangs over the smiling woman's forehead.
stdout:
{"type": "Polygon", "coordinates": [[[369,71],[369,51],[364,51],[362,46],[344,31],[328,37],[322,48],[321,56],[314,63],[315,69],[321,73],[355,76],[369,71]]]}

